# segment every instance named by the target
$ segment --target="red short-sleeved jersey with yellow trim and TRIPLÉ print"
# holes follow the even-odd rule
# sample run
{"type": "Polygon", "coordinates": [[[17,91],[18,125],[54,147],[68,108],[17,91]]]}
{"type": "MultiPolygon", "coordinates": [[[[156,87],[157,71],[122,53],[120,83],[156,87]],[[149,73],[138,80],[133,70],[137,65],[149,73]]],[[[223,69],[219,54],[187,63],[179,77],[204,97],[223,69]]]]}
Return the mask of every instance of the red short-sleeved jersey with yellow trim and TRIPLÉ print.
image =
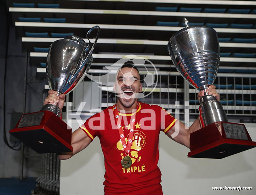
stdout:
{"type": "Polygon", "coordinates": [[[136,112],[119,112],[121,125],[127,142],[131,116],[136,113],[134,135],[129,157],[130,168],[122,168],[121,160],[126,156],[116,119],[114,106],[87,119],[80,127],[92,140],[98,136],[105,158],[105,194],[149,194],[161,188],[161,172],[157,166],[159,133],[167,133],[176,119],[160,106],[138,102],[136,112]]]}

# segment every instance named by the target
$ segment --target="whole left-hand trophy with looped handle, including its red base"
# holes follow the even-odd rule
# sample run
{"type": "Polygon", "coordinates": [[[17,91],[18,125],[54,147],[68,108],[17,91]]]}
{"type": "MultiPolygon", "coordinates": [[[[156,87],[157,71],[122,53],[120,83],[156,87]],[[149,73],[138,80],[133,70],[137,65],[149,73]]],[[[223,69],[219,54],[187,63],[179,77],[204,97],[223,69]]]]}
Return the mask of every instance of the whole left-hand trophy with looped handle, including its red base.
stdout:
{"type": "MultiPolygon", "coordinates": [[[[57,95],[70,93],[84,79],[92,63],[92,51],[99,31],[99,26],[88,31],[88,44],[75,35],[51,44],[46,72],[50,89],[57,91],[57,95]],[[88,36],[94,29],[98,29],[98,33],[91,44],[88,36]]],[[[71,128],[61,119],[58,105],[46,104],[40,112],[22,115],[10,133],[38,153],[72,151],[71,128]]]]}

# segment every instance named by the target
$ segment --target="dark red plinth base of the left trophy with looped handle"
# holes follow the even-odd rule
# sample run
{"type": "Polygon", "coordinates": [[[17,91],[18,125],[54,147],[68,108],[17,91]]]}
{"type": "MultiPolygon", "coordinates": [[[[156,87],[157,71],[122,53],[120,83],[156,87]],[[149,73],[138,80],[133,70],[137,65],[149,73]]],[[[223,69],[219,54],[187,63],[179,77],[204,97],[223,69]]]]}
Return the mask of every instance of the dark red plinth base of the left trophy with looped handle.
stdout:
{"type": "Polygon", "coordinates": [[[9,133],[37,153],[73,151],[72,129],[50,111],[22,115],[9,133]]]}

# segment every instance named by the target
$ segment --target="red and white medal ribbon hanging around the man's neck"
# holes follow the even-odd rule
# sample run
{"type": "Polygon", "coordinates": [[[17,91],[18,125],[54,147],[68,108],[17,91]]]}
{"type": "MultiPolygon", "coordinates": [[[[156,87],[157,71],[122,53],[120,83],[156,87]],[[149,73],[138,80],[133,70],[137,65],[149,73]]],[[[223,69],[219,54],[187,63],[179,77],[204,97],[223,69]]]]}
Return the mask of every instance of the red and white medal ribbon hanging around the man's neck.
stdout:
{"type": "Polygon", "coordinates": [[[117,111],[117,107],[116,105],[114,105],[114,114],[115,114],[115,118],[116,118],[116,122],[117,122],[117,127],[118,127],[118,131],[119,131],[119,135],[122,141],[122,147],[124,148],[125,154],[129,154],[131,146],[132,146],[132,137],[134,135],[134,127],[135,127],[135,120],[136,120],[136,113],[137,110],[139,108],[139,104],[137,103],[137,109],[134,115],[131,116],[131,120],[130,120],[130,132],[129,132],[129,137],[128,137],[128,142],[125,142],[125,138],[124,138],[124,131],[122,129],[122,125],[121,125],[121,120],[119,118],[119,114],[117,111]]]}

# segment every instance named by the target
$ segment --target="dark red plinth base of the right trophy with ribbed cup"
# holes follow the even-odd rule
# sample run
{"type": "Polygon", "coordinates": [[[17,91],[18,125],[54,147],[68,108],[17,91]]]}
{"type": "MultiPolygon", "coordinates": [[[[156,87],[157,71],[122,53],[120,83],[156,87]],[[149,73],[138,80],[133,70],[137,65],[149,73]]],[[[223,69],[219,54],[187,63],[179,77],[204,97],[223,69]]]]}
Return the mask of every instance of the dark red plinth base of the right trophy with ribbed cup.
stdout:
{"type": "Polygon", "coordinates": [[[225,158],[256,147],[244,124],[217,122],[190,134],[188,157],[225,158]]]}

